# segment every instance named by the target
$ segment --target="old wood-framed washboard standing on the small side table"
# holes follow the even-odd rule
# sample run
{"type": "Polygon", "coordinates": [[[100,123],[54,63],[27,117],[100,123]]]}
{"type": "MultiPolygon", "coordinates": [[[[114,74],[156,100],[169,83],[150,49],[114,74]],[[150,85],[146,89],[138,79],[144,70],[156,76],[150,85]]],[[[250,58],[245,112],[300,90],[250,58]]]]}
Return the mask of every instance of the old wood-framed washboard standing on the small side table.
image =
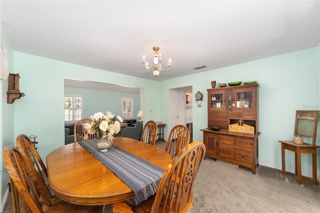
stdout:
{"type": "Polygon", "coordinates": [[[309,137],[315,145],[318,115],[318,110],[296,110],[294,135],[309,137]]]}

